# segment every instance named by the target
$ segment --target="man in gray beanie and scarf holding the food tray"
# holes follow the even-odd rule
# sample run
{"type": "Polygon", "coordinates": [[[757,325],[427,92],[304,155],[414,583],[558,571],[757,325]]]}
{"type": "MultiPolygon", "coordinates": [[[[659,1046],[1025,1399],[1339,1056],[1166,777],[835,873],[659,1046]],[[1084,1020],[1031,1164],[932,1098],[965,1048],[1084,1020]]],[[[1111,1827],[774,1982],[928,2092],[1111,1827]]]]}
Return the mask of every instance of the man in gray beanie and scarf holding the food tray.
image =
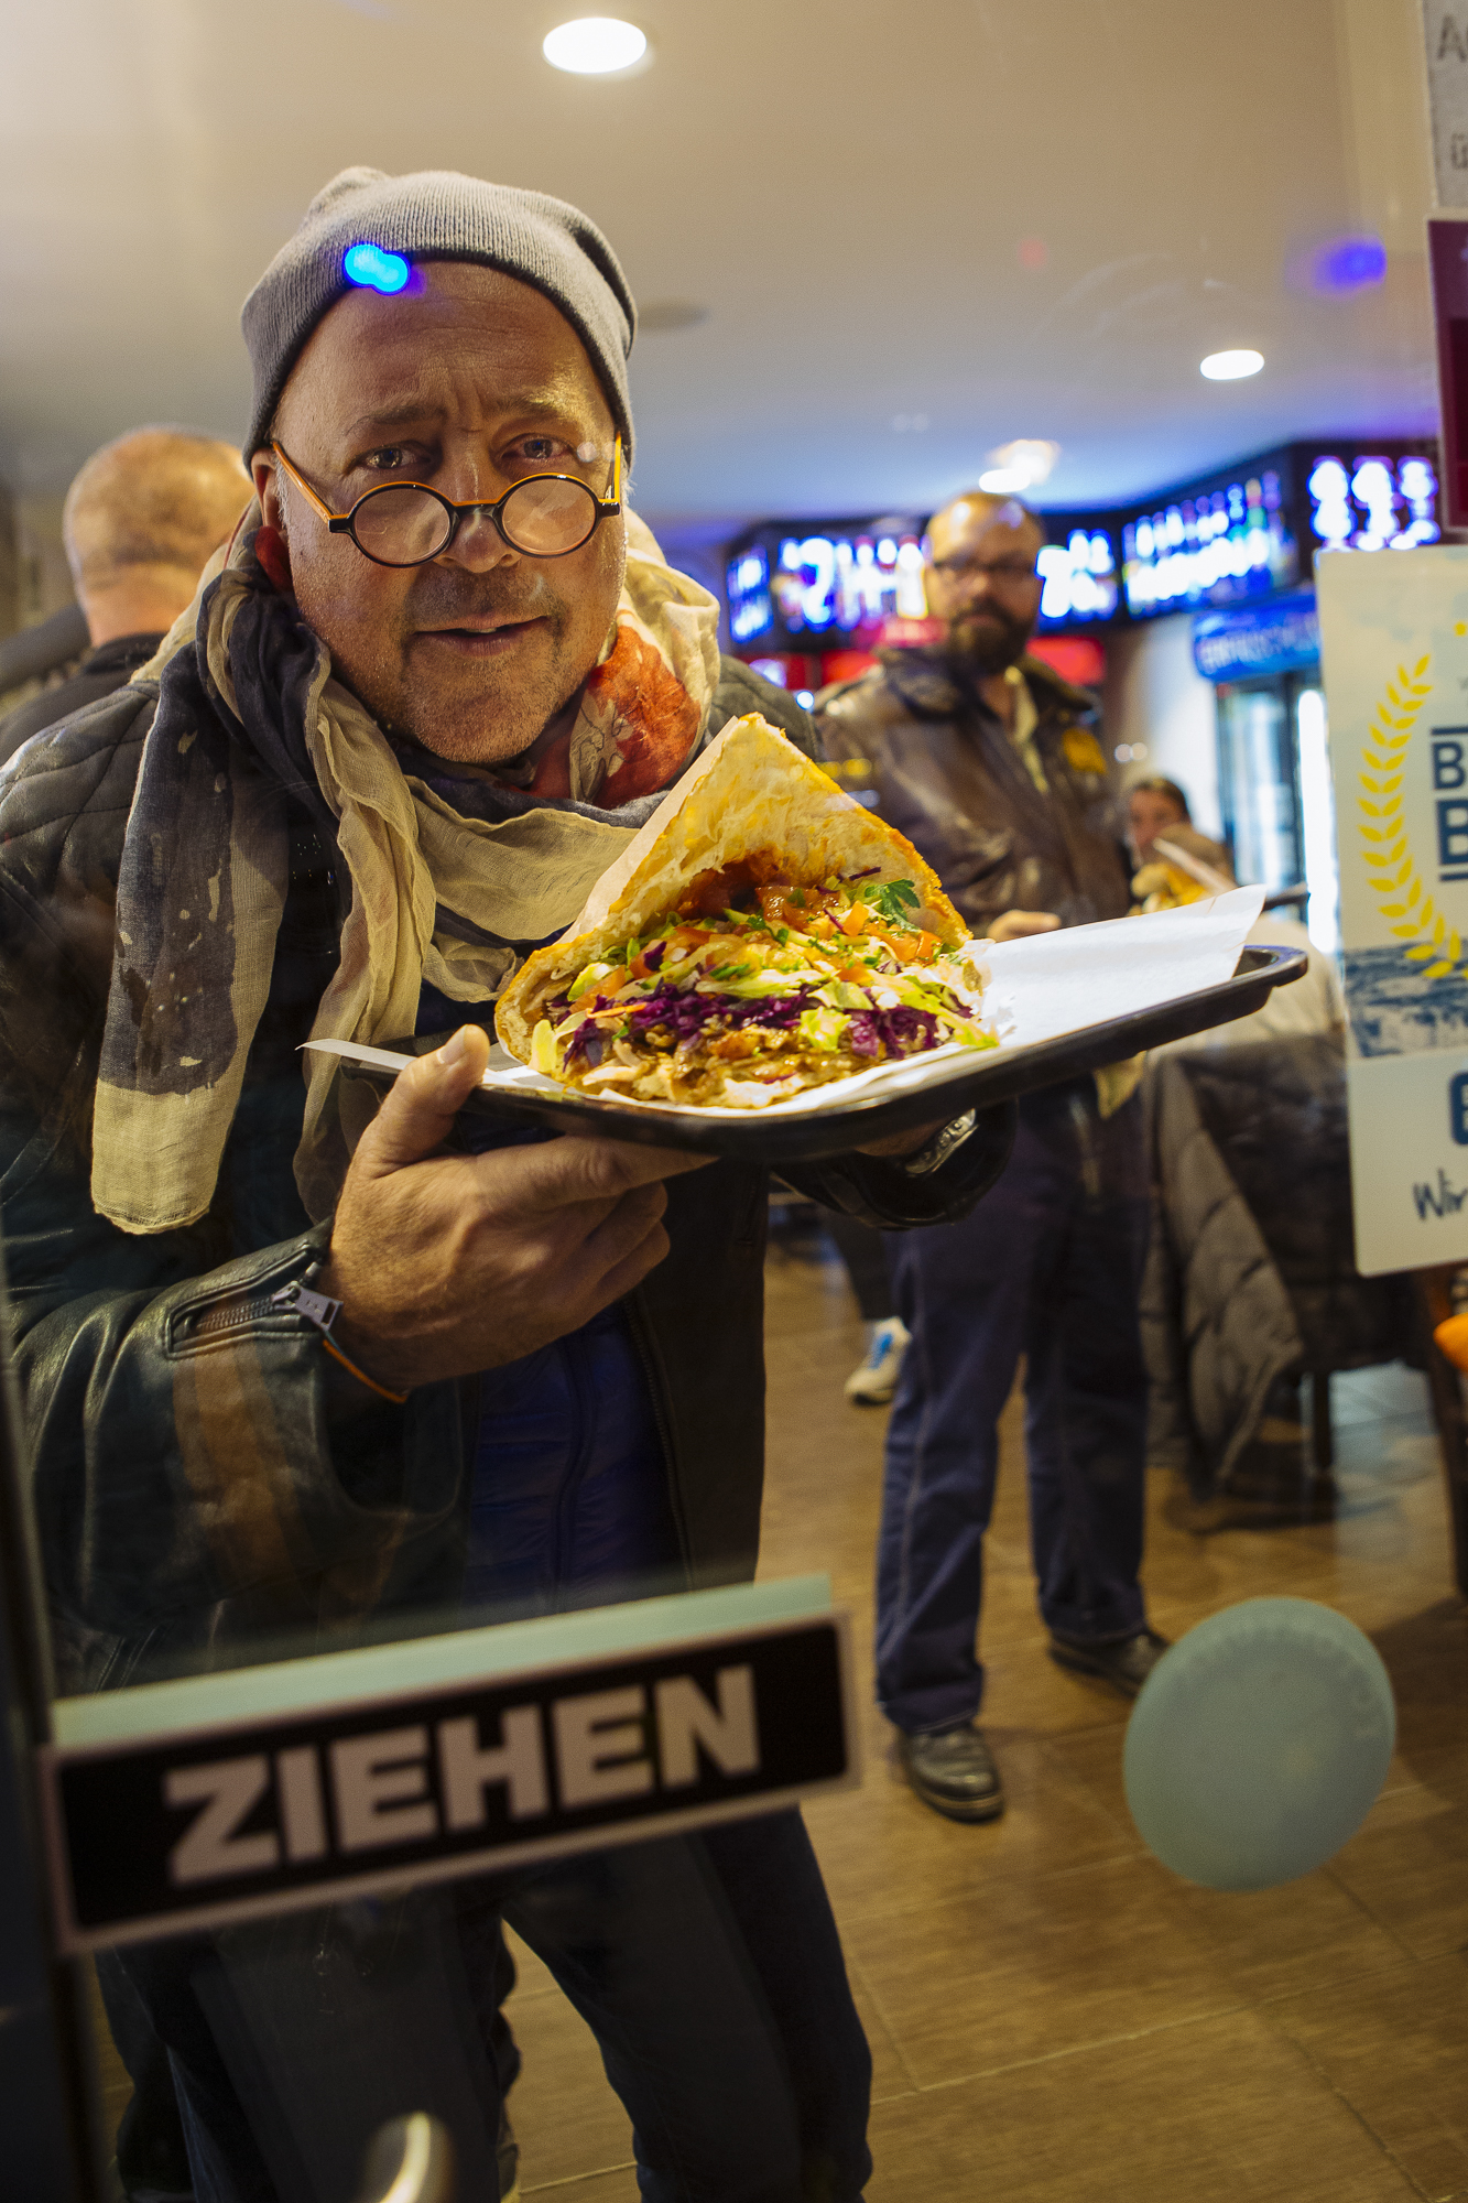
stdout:
{"type": "MultiPolygon", "coordinates": [[[[498,991],[719,727],[813,747],[626,511],[633,333],[573,207],[346,170],[245,306],[256,504],[0,791],[0,1220],[66,1692],[754,1571],[765,1174],[458,1117],[498,991]],[[417,1062],[373,1115],[306,1040],[417,1062]]],[[[990,1174],[798,1172],[886,1229],[990,1174]]],[[[300,1811],[262,1791],[240,1857],[309,1855],[300,1811]]],[[[412,2110],[463,2203],[507,2192],[503,1919],[650,2203],[855,2203],[871,2062],[796,1811],[104,1954],[194,2192],[342,2199],[412,2110]]]]}

